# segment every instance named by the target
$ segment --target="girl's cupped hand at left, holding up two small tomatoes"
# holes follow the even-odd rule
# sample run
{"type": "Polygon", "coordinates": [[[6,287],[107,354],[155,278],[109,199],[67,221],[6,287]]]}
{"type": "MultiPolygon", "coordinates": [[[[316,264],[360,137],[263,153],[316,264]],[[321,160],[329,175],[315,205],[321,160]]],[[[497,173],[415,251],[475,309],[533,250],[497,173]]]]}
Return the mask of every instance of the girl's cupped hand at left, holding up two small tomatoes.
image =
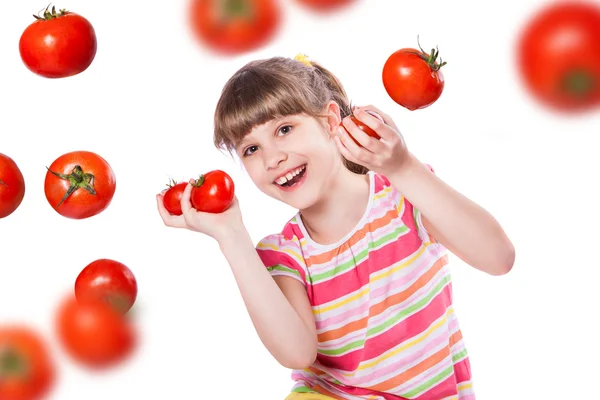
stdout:
{"type": "Polygon", "coordinates": [[[222,213],[201,212],[192,207],[193,183],[194,180],[190,180],[183,191],[183,197],[181,198],[182,215],[172,215],[167,211],[163,204],[164,192],[156,195],[158,212],[166,226],[200,232],[217,241],[221,241],[236,230],[243,229],[244,224],[237,196],[233,198],[231,205],[222,213]]]}

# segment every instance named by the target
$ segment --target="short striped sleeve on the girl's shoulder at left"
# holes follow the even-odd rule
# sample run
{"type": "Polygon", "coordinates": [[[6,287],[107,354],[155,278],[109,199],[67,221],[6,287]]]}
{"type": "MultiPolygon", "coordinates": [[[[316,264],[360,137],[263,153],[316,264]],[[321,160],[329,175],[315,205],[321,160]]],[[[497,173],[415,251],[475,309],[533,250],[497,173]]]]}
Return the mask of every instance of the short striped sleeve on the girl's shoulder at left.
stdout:
{"type": "Polygon", "coordinates": [[[298,238],[269,235],[256,245],[256,251],[271,276],[289,276],[307,287],[308,270],[298,238]]]}

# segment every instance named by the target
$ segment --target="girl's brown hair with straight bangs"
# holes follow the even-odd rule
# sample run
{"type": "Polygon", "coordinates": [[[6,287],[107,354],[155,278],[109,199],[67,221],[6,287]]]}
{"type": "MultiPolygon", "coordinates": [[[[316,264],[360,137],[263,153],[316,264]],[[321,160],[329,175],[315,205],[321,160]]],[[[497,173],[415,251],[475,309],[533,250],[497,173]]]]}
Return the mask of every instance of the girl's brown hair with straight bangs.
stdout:
{"type": "MultiPolygon", "coordinates": [[[[327,69],[311,61],[273,57],[251,61],[225,84],[214,117],[214,144],[230,153],[257,125],[294,114],[323,117],[333,100],[341,118],[350,115],[350,104],[340,81],[327,69]]],[[[350,171],[367,173],[365,167],[346,159],[350,171]]]]}

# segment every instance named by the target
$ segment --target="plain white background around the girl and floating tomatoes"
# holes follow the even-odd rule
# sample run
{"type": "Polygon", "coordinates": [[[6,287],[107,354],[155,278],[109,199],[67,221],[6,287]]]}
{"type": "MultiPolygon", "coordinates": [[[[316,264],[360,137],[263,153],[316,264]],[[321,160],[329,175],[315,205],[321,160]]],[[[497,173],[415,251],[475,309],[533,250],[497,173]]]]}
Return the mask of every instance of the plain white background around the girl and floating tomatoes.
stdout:
{"type": "Polygon", "coordinates": [[[596,295],[600,118],[563,118],[533,102],[514,69],[518,29],[544,1],[362,0],[317,17],[284,1],[279,36],[259,51],[215,57],[188,32],[182,0],[69,0],[88,18],[98,52],[83,74],[48,80],[22,64],[18,41],[46,4],[3,6],[0,152],[26,179],[21,207],[0,220],[0,323],[39,329],[60,379],[52,399],[283,399],[290,371],[263,348],[216,243],[166,228],[155,194],[169,177],[211,169],[234,178],[254,241],[294,210],[266,198],[212,145],[226,79],[247,61],[305,52],[334,71],[353,103],[391,114],[409,148],[490,210],[517,260],[503,277],[453,261],[456,309],[479,399],[591,398],[600,357],[596,295]],[[401,47],[439,46],[446,87],[415,112],[387,97],[381,68],[401,47]],[[45,166],[90,150],[113,167],[111,206],[88,220],[59,216],[43,192],[45,166]],[[103,375],[77,368],[52,336],[56,304],[97,258],[128,265],[139,284],[142,344],[103,375]]]}

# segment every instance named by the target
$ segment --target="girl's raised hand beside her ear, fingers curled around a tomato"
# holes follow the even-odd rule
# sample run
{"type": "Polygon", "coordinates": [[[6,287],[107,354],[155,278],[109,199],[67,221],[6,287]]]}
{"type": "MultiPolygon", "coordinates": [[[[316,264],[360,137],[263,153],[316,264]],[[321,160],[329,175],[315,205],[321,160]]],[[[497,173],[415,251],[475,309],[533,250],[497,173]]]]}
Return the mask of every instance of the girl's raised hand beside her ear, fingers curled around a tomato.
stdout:
{"type": "Polygon", "coordinates": [[[362,165],[371,171],[390,176],[405,165],[409,157],[408,148],[394,121],[374,106],[356,107],[354,116],[381,139],[370,137],[363,132],[350,117],[344,118],[335,138],[340,153],[349,161],[362,165]],[[379,114],[384,122],[367,111],[379,114]],[[350,134],[360,143],[357,145],[350,134]]]}

